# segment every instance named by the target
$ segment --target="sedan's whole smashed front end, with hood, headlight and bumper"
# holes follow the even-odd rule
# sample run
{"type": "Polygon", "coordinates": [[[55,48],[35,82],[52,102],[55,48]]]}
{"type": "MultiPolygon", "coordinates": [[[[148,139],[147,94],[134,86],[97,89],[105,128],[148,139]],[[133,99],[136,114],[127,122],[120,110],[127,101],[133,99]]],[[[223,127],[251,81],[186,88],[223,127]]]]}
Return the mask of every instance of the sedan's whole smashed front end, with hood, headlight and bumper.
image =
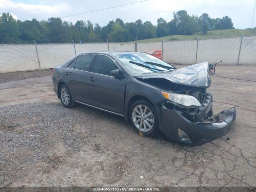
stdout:
{"type": "Polygon", "coordinates": [[[159,130],[176,142],[200,145],[214,140],[226,135],[236,118],[235,107],[213,116],[207,62],[137,78],[164,90],[159,130]]]}

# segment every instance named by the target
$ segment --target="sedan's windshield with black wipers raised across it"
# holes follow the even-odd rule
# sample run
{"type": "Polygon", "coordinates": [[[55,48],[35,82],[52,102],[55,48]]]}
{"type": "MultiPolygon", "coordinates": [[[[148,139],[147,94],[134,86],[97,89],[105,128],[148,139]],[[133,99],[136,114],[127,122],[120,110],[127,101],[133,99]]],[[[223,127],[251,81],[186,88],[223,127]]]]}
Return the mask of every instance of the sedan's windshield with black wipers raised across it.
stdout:
{"type": "Polygon", "coordinates": [[[142,73],[153,73],[160,71],[170,71],[175,69],[168,63],[144,53],[134,54],[114,54],[115,58],[122,62],[123,66],[133,75],[142,73]]]}

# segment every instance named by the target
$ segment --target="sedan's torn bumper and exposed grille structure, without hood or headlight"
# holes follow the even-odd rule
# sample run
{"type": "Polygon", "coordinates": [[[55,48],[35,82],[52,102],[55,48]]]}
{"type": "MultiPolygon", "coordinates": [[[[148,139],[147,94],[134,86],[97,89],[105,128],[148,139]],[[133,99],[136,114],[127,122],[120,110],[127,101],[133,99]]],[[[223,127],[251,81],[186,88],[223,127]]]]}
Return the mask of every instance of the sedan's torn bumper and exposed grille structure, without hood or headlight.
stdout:
{"type": "MultiPolygon", "coordinates": [[[[185,144],[200,145],[226,135],[236,119],[236,108],[213,116],[212,96],[205,89],[200,107],[182,107],[164,101],[160,106],[162,119],[159,129],[168,138],[185,144]]],[[[193,92],[191,92],[193,93],[193,92]]]]}

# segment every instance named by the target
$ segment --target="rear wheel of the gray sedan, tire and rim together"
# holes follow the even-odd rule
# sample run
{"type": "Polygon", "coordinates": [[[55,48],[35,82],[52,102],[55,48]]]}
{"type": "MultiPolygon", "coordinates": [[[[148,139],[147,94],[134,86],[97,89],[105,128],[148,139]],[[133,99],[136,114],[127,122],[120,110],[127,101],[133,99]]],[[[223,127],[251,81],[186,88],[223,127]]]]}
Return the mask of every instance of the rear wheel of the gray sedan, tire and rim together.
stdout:
{"type": "Polygon", "coordinates": [[[68,89],[68,86],[66,84],[62,84],[60,86],[60,101],[62,105],[66,108],[72,108],[76,105],[76,102],[72,100],[72,95],[70,93],[70,90],[68,89]]]}

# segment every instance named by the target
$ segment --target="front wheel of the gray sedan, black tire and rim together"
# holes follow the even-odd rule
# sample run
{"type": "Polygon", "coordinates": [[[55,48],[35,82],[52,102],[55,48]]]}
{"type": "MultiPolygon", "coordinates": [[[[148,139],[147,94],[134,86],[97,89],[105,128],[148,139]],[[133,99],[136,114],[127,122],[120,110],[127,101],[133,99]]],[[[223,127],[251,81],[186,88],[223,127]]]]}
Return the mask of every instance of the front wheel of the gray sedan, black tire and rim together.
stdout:
{"type": "Polygon", "coordinates": [[[158,115],[154,106],[146,100],[135,101],[130,107],[132,126],[145,135],[154,136],[158,132],[158,115]]]}

